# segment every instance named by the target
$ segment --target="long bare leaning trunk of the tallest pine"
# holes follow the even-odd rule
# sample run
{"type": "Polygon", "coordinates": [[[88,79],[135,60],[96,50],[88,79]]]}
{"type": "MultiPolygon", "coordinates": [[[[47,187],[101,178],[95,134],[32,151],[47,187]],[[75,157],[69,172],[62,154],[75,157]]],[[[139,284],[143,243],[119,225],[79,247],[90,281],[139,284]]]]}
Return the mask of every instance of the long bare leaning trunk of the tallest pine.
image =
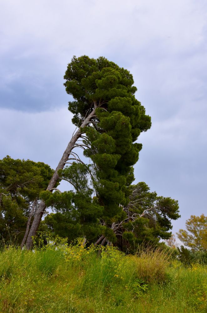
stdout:
{"type": "MultiPolygon", "coordinates": [[[[91,123],[91,119],[92,117],[94,117],[96,115],[95,111],[96,111],[96,105],[94,105],[94,110],[86,117],[85,121],[80,125],[80,128],[78,129],[78,131],[76,131],[76,133],[73,135],[73,137],[71,138],[65,152],[63,153],[63,156],[53,174],[53,177],[51,178],[49,185],[47,187],[47,190],[52,191],[53,188],[55,187],[56,183],[58,182],[58,179],[60,178],[58,175],[58,171],[61,169],[63,169],[63,167],[65,166],[65,163],[67,162],[69,155],[71,153],[71,151],[74,149],[75,147],[75,143],[78,140],[78,138],[80,138],[80,136],[84,133],[81,129],[84,128],[85,126],[87,126],[88,124],[91,123]]],[[[33,247],[33,241],[32,241],[32,236],[34,236],[39,228],[39,224],[41,221],[41,218],[43,216],[43,213],[45,211],[46,205],[45,202],[42,200],[39,204],[38,209],[35,211],[35,215],[34,215],[34,220],[32,223],[32,226],[30,228],[28,237],[27,237],[27,241],[26,241],[26,249],[32,249],[33,247]]]]}

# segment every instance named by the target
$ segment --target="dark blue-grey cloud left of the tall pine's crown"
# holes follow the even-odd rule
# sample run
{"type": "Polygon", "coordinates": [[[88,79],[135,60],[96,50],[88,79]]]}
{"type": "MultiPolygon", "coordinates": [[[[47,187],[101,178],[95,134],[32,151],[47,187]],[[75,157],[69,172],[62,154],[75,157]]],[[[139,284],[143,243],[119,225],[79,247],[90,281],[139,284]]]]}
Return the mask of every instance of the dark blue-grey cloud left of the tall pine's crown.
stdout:
{"type": "Polygon", "coordinates": [[[67,105],[64,72],[51,59],[37,56],[15,59],[10,54],[2,61],[0,107],[38,112],[67,105]]]}

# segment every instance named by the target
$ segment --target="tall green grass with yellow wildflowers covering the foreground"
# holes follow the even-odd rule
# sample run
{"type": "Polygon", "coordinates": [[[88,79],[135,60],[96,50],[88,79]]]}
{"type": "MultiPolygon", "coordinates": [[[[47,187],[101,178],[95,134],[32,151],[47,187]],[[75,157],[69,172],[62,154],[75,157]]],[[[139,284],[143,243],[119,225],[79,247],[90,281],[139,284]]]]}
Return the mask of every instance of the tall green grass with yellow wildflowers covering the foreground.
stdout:
{"type": "Polygon", "coordinates": [[[206,312],[207,274],[165,252],[54,246],[0,253],[0,312],[206,312]]]}

